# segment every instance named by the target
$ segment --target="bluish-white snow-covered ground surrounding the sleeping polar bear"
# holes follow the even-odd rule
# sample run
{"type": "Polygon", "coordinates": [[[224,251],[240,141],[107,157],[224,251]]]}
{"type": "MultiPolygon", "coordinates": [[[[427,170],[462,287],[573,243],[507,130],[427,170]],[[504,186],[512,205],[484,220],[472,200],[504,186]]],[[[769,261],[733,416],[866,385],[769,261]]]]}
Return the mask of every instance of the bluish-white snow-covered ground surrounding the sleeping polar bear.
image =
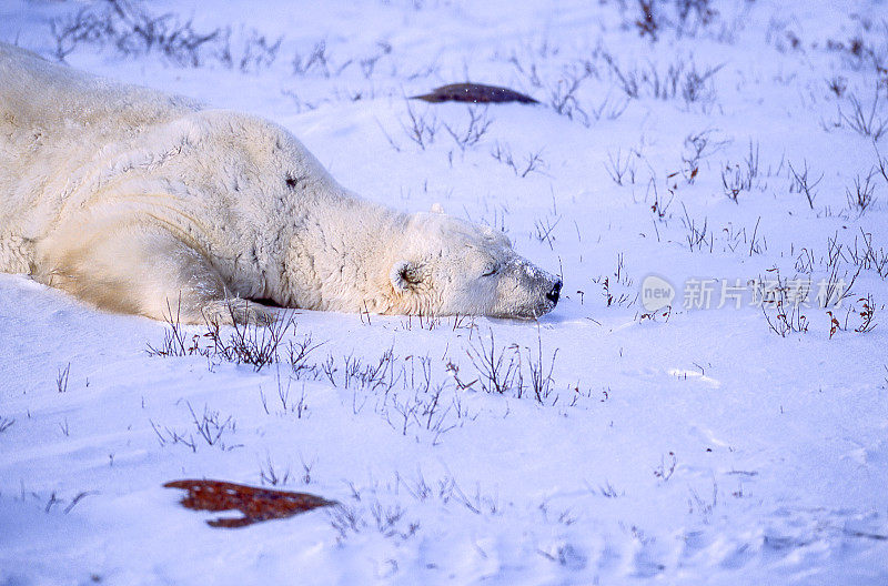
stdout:
{"type": "Polygon", "coordinates": [[[138,10],[8,0],[0,40],[275,120],[370,199],[505,230],[563,302],[297,312],[254,372],[0,275],[0,584],[888,583],[882,2],[297,4],[145,2],[219,29],[164,51],[138,10]],[[542,104],[405,100],[466,80],[542,104]],[[188,477],[342,505],[214,529],[188,477]]]}

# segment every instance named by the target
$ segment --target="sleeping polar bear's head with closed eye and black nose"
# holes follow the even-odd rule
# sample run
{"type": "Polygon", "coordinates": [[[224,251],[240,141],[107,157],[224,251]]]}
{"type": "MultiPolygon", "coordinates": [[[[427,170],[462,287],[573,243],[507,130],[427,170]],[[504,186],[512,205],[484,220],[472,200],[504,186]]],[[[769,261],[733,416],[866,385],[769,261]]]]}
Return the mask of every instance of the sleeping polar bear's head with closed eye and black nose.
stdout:
{"type": "Polygon", "coordinates": [[[558,303],[562,281],[512,249],[501,231],[438,211],[407,218],[392,263],[387,313],[536,319],[558,303]]]}

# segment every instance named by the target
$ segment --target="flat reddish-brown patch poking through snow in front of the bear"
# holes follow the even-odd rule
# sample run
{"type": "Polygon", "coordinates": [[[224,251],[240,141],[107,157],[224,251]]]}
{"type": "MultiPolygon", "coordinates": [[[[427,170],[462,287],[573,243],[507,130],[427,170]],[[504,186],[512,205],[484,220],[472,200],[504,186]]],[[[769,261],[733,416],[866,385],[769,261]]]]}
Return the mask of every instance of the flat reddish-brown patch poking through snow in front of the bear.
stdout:
{"type": "Polygon", "coordinates": [[[182,506],[193,511],[240,511],[243,516],[220,517],[206,523],[213,527],[245,527],[253,523],[292,517],[322,506],[337,504],[307,493],[254,488],[223,481],[173,481],[167,488],[183,488],[182,506]]]}

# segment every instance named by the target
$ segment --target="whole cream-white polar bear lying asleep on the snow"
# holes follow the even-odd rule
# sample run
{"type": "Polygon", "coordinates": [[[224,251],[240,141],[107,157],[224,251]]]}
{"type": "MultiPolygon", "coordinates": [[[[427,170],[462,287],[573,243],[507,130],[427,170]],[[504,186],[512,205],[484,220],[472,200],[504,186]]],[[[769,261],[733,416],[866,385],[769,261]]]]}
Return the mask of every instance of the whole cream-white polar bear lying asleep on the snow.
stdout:
{"type": "Polygon", "coordinates": [[[535,319],[562,282],[502,233],[340,186],[284,129],[0,44],[0,270],[111,311],[535,319]]]}

